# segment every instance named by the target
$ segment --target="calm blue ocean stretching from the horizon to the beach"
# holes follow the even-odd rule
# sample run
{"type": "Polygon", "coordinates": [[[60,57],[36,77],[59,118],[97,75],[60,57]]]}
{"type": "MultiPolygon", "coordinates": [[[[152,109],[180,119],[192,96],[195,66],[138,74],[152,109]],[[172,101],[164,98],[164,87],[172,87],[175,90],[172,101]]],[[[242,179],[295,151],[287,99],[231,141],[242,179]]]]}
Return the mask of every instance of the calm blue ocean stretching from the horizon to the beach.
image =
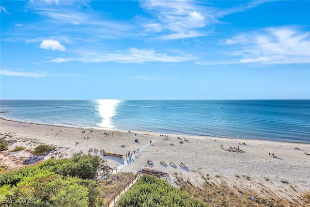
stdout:
{"type": "Polygon", "coordinates": [[[0,116],[71,127],[310,143],[310,100],[0,100],[0,116]]]}

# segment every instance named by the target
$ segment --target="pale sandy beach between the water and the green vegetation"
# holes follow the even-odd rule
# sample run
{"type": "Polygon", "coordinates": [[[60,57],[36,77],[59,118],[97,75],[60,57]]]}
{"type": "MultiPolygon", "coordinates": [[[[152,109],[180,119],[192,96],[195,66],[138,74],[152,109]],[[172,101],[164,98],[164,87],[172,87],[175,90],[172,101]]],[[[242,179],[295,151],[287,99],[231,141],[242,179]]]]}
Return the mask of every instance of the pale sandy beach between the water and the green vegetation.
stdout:
{"type": "Polygon", "coordinates": [[[301,192],[310,190],[310,156],[305,154],[310,153],[310,144],[306,143],[161,135],[97,128],[91,132],[90,128],[22,123],[2,118],[0,132],[0,137],[5,136],[11,142],[8,150],[0,152],[1,164],[7,169],[25,166],[25,160],[30,160],[33,148],[45,143],[54,145],[56,150],[38,159],[71,158],[76,154],[88,153],[101,155],[100,150],[104,150],[123,155],[123,159],[102,156],[107,160],[107,165],[114,169],[113,173],[116,173],[116,168],[118,172],[133,173],[149,168],[169,173],[171,184],[174,183],[173,175],[178,173],[196,185],[201,185],[203,177],[209,176],[214,183],[226,182],[245,190],[261,191],[265,196],[277,194],[284,199],[298,200],[301,192]],[[9,152],[15,146],[25,146],[26,149],[9,152]],[[230,147],[233,150],[230,151],[230,147]],[[90,148],[97,148],[99,152],[90,148]],[[134,155],[138,149],[139,153],[134,155]],[[128,152],[133,154],[132,159],[125,157],[128,152]],[[147,164],[148,160],[152,160],[153,164],[147,164]],[[185,163],[185,167],[180,167],[181,162],[185,163]],[[282,183],[281,180],[288,183],[282,183]]]}

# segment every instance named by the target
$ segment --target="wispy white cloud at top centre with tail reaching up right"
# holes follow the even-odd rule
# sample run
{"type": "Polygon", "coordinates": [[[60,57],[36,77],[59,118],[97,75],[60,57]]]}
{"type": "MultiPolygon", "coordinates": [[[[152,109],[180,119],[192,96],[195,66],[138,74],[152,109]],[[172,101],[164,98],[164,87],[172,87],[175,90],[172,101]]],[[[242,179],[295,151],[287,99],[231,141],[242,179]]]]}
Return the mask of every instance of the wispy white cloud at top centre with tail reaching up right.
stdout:
{"type": "Polygon", "coordinates": [[[265,1],[250,1],[237,7],[222,9],[206,6],[207,2],[194,0],[147,0],[140,6],[153,18],[141,18],[146,32],[162,32],[162,39],[184,39],[207,35],[212,31],[208,25],[220,23],[218,19],[235,12],[242,12],[265,1]]]}

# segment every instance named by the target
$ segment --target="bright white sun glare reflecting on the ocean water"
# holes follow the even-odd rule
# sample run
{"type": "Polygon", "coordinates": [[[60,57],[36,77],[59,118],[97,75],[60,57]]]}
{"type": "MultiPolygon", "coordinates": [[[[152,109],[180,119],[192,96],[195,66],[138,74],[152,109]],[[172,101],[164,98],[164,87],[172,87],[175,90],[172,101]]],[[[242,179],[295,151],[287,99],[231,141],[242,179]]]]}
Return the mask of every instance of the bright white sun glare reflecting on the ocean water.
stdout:
{"type": "Polygon", "coordinates": [[[120,100],[100,99],[98,101],[98,111],[102,121],[98,124],[99,127],[115,128],[113,126],[112,117],[116,115],[117,105],[120,100]]]}

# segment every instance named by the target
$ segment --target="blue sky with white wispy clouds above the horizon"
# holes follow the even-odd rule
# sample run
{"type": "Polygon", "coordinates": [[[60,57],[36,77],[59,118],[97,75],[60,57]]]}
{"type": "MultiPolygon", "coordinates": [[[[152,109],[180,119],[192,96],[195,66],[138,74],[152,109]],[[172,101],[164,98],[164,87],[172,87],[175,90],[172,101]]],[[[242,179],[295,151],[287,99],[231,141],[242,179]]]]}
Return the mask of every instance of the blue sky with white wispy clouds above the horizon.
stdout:
{"type": "Polygon", "coordinates": [[[310,1],[0,1],[1,99],[310,99],[310,1]]]}

